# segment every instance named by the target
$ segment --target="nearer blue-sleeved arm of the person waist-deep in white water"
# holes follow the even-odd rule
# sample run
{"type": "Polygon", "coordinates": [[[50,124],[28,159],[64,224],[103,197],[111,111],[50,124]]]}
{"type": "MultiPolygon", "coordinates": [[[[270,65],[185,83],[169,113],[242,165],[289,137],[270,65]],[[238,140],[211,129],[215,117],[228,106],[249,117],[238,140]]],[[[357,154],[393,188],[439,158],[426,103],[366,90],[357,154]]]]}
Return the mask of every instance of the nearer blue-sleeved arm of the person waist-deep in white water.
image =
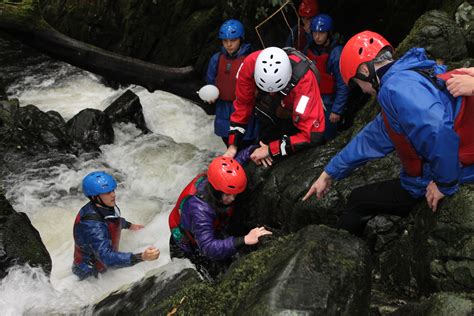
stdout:
{"type": "Polygon", "coordinates": [[[83,221],[79,225],[84,227],[84,236],[94,254],[107,267],[127,267],[132,265],[131,252],[118,252],[112,248],[107,224],[98,221],[83,221]]]}

